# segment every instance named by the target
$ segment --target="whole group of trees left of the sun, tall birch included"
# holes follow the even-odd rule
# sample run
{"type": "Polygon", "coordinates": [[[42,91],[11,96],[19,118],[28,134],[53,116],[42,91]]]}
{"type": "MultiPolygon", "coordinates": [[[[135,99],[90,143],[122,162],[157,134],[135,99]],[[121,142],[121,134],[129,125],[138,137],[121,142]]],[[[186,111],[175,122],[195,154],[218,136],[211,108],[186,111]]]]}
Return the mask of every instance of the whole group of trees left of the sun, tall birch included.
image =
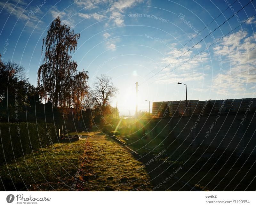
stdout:
{"type": "Polygon", "coordinates": [[[4,118],[1,120],[15,121],[16,110],[20,121],[23,118],[28,121],[28,112],[33,111],[36,119],[46,119],[51,113],[49,117],[54,117],[52,121],[60,125],[65,119],[73,119],[75,127],[90,128],[92,119],[100,122],[119,116],[118,110],[109,103],[118,91],[111,78],[97,76],[90,88],[88,72],[77,71],[71,53],[76,51],[79,37],[80,34],[61,24],[59,17],[53,20],[43,39],[44,62],[38,69],[36,88],[24,78],[23,67],[3,63],[0,56],[0,116],[4,118]]]}

